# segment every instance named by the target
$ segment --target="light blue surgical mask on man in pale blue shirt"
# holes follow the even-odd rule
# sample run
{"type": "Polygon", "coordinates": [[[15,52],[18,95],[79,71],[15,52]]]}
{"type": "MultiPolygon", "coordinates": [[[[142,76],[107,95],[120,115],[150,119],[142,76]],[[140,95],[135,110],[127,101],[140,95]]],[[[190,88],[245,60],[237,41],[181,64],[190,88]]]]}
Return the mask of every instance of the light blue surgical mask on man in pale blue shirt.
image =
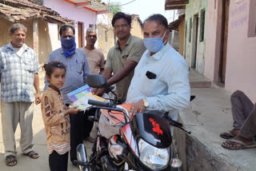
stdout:
{"type": "MultiPolygon", "coordinates": [[[[162,38],[164,38],[165,35],[166,32],[165,34],[163,34],[162,38]]],[[[150,50],[150,52],[157,53],[164,47],[164,44],[162,43],[162,38],[144,38],[144,46],[146,46],[146,49],[150,50]]]]}

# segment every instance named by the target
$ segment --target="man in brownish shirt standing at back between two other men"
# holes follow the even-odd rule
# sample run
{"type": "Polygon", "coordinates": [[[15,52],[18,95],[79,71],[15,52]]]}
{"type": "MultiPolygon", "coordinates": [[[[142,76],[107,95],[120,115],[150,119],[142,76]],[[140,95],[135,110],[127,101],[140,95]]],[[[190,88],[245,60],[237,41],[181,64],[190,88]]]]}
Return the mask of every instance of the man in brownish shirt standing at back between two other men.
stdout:
{"type": "MultiPolygon", "coordinates": [[[[86,46],[82,47],[82,50],[86,53],[86,58],[90,68],[90,74],[102,74],[104,70],[104,54],[102,51],[97,50],[94,45],[97,41],[97,33],[94,28],[88,28],[86,30],[86,46]]],[[[96,109],[86,110],[86,117],[83,123],[83,138],[86,141],[94,142],[95,139],[90,137],[90,131],[94,126],[94,121],[89,121],[87,116],[93,116],[96,109]]]]}

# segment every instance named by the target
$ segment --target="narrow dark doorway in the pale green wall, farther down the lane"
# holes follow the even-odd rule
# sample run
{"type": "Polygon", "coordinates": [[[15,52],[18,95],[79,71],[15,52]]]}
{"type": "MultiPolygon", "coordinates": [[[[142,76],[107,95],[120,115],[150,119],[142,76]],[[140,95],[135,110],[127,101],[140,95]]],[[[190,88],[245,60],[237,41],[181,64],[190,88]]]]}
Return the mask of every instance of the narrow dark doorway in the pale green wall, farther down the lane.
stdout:
{"type": "Polygon", "coordinates": [[[193,36],[192,36],[192,61],[191,68],[196,69],[198,54],[198,14],[193,18],[193,36]]]}

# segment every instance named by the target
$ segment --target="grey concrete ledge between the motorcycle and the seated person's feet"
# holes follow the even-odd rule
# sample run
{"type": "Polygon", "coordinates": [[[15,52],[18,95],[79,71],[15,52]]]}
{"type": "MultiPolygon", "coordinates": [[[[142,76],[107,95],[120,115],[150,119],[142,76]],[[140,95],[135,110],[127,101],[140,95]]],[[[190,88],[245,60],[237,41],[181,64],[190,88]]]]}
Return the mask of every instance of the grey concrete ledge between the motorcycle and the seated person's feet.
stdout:
{"type": "Polygon", "coordinates": [[[219,133],[232,129],[230,93],[224,89],[191,89],[194,101],[180,110],[180,121],[192,133],[174,129],[180,157],[191,171],[254,171],[256,149],[229,150],[219,133]]]}

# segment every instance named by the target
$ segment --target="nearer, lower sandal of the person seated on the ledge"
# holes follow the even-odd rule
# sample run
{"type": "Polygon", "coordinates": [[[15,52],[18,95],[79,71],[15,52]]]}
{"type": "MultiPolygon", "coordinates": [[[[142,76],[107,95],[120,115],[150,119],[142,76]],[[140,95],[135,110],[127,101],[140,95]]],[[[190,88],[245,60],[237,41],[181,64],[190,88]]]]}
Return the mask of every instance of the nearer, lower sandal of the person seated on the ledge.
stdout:
{"type": "Polygon", "coordinates": [[[256,148],[256,144],[254,142],[251,143],[245,143],[240,140],[235,140],[234,138],[224,141],[222,143],[222,147],[225,149],[232,149],[232,150],[237,150],[237,149],[252,149],[256,148]]]}

